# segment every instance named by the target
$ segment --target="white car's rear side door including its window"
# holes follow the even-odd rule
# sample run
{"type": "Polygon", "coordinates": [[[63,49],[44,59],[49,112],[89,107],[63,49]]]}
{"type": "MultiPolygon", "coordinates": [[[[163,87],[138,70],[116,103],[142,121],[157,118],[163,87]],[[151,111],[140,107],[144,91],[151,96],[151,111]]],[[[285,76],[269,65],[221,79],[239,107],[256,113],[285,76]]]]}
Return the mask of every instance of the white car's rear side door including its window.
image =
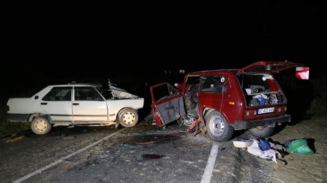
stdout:
{"type": "Polygon", "coordinates": [[[53,87],[40,104],[53,122],[72,121],[72,87],[53,87]]]}

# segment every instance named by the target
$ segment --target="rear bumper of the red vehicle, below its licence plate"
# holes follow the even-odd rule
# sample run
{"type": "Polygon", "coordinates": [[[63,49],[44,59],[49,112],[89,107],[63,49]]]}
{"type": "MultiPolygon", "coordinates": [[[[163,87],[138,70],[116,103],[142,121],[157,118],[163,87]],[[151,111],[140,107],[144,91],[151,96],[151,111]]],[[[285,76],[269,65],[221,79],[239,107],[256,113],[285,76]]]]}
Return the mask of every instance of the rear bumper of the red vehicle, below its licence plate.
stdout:
{"type": "Polygon", "coordinates": [[[261,126],[275,126],[275,122],[290,122],[290,115],[285,114],[284,116],[279,116],[277,118],[268,118],[265,120],[254,120],[254,121],[235,121],[234,129],[251,129],[254,127],[261,126]]]}

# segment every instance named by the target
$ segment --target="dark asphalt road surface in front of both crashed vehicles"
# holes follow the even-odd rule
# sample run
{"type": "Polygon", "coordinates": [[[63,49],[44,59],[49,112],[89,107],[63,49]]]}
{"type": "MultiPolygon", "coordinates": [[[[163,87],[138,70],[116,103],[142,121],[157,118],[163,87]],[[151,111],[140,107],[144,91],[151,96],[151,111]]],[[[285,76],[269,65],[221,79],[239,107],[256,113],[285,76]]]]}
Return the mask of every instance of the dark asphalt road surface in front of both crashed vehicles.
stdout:
{"type": "MultiPolygon", "coordinates": [[[[177,124],[159,129],[143,121],[116,134],[120,129],[56,127],[46,136],[28,133],[1,140],[1,182],[33,172],[23,182],[266,182],[273,176],[268,166],[272,162],[233,147],[231,141],[193,136],[177,124]],[[217,155],[210,160],[209,174],[204,173],[214,144],[217,155]],[[84,151],[77,152],[80,149],[84,151]]],[[[249,137],[240,133],[236,138],[249,137]]]]}

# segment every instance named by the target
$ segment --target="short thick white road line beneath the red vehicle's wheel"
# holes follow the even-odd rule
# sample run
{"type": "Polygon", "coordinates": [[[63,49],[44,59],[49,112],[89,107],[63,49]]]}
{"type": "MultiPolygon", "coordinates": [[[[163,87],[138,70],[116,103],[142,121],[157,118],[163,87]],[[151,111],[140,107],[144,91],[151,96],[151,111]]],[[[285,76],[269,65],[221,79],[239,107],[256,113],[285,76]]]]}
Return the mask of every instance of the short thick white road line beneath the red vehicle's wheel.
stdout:
{"type": "Polygon", "coordinates": [[[219,149],[218,144],[212,144],[212,148],[211,148],[210,155],[208,158],[208,163],[207,163],[206,169],[204,169],[204,175],[202,175],[201,183],[210,182],[211,176],[212,176],[212,171],[216,164],[218,149],[219,149]]]}

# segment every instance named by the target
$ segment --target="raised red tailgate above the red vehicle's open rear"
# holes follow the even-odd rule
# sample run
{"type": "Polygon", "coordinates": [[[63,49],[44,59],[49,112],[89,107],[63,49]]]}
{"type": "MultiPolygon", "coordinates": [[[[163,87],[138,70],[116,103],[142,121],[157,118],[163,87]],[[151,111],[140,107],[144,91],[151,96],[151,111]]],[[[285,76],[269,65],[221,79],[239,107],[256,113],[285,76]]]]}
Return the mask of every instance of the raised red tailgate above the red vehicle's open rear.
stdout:
{"type": "Polygon", "coordinates": [[[261,72],[261,73],[276,73],[291,67],[304,66],[302,63],[288,62],[264,62],[259,61],[252,63],[244,68],[239,69],[239,72],[261,72]]]}

